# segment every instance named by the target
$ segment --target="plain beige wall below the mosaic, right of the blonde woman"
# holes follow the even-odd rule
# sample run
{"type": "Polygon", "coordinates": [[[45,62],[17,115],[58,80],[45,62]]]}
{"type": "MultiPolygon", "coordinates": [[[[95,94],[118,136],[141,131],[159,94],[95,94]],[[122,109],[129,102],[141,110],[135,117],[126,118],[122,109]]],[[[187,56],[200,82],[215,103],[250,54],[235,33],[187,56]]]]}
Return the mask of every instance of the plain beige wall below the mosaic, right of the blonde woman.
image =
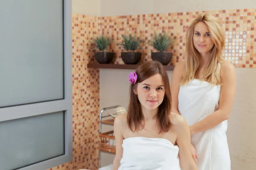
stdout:
{"type": "Polygon", "coordinates": [[[228,120],[232,170],[256,169],[256,69],[236,68],[237,88],[228,120]]]}

